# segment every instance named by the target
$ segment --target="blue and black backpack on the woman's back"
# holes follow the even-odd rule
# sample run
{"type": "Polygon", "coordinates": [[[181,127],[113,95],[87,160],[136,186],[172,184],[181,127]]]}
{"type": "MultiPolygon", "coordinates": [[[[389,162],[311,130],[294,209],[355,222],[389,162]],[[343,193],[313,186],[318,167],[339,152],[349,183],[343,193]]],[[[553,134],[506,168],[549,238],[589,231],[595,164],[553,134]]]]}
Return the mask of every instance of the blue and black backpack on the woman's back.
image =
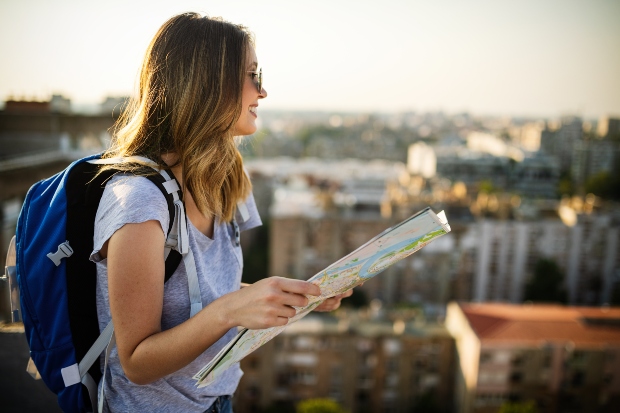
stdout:
{"type": "MultiPolygon", "coordinates": [[[[96,266],[89,257],[105,183],[118,171],[97,172],[101,164],[136,158],[103,160],[93,155],[73,162],[30,188],[17,222],[16,273],[31,359],[65,412],[96,411],[103,373],[98,360],[106,348],[109,354],[113,340],[112,323],[99,332],[96,266]]],[[[139,160],[142,165],[148,161],[139,160]]],[[[178,182],[171,172],[158,172],[147,178],[162,191],[170,212],[165,282],[181,259],[189,255],[193,264],[193,257],[178,182]]]]}

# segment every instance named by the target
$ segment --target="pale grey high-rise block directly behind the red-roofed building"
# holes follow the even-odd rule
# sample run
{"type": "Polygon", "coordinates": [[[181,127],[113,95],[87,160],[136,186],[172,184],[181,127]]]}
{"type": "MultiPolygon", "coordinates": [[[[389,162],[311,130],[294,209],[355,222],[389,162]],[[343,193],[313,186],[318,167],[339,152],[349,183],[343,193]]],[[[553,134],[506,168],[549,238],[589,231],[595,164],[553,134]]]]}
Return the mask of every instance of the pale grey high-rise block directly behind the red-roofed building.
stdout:
{"type": "Polygon", "coordinates": [[[553,259],[565,274],[570,304],[608,303],[620,281],[617,217],[580,215],[569,227],[558,219],[493,221],[473,224],[466,238],[475,240],[469,265],[474,301],[523,300],[524,286],[538,259],[553,259]]]}

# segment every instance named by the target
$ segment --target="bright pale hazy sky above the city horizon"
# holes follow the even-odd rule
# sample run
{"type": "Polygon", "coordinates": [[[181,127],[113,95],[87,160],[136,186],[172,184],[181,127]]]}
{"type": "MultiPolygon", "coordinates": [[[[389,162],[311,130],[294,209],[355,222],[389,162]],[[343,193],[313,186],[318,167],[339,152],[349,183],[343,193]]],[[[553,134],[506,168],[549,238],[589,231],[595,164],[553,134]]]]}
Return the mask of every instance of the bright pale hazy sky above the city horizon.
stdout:
{"type": "Polygon", "coordinates": [[[620,114],[618,0],[0,0],[0,99],[127,95],[184,11],[256,34],[261,108],[620,114]]]}

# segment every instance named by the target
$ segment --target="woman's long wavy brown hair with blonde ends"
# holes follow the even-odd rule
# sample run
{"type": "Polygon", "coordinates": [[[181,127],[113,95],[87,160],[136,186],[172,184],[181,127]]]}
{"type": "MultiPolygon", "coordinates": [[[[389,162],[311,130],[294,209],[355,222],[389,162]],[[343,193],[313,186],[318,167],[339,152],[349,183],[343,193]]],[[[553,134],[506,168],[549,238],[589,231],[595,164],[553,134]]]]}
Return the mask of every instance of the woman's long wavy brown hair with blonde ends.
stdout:
{"type": "Polygon", "coordinates": [[[231,221],[251,190],[233,134],[253,43],[247,28],[219,18],[184,13],[164,23],[103,157],[139,155],[167,168],[161,155],[176,153],[171,166],[183,168],[183,188],[200,212],[231,221]]]}

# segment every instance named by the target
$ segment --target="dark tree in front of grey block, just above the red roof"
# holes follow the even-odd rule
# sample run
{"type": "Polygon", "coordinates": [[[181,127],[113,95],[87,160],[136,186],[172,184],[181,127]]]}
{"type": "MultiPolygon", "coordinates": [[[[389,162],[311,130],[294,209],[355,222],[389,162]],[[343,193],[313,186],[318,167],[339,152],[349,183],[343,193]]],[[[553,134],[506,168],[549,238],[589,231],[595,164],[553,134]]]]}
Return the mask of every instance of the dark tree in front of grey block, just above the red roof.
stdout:
{"type": "Polygon", "coordinates": [[[536,262],[534,275],[525,285],[523,300],[566,304],[564,274],[555,261],[543,258],[536,262]]]}

